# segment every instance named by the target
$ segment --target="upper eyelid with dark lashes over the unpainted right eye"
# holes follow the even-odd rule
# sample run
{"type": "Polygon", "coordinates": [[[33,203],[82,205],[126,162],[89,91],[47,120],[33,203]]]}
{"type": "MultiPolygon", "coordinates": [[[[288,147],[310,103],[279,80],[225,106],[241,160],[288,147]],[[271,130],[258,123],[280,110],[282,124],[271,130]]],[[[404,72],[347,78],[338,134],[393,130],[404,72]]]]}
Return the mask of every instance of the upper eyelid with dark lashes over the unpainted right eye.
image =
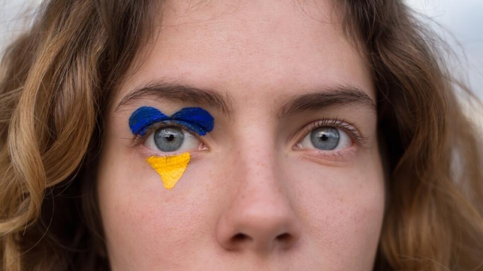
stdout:
{"type": "Polygon", "coordinates": [[[339,119],[337,117],[324,117],[320,120],[311,122],[310,124],[302,128],[302,130],[298,132],[297,136],[295,137],[297,139],[297,142],[300,142],[308,133],[312,132],[312,130],[323,126],[334,126],[343,129],[350,134],[351,138],[360,147],[364,147],[368,141],[368,138],[360,132],[360,129],[356,126],[356,124],[346,121],[344,119],[339,119]]]}

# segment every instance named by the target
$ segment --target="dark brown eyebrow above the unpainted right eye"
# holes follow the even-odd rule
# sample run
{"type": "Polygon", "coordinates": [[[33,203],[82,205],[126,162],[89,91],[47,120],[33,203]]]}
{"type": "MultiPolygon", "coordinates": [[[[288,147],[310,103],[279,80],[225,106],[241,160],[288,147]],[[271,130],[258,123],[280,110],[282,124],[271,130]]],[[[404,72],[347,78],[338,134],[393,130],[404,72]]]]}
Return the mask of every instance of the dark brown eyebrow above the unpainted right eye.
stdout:
{"type": "Polygon", "coordinates": [[[279,116],[294,115],[333,105],[362,105],[376,111],[374,101],[362,89],[352,85],[338,85],[295,96],[282,107],[279,116]]]}

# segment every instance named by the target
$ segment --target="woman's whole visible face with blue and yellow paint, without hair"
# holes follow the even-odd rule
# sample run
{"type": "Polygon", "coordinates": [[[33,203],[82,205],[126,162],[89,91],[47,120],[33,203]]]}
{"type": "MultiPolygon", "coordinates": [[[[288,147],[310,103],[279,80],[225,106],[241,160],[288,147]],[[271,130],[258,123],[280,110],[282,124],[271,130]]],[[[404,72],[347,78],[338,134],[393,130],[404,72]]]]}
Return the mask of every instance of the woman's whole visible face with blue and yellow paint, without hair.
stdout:
{"type": "Polygon", "coordinates": [[[113,270],[372,268],[376,96],[335,22],[325,1],[164,7],[106,115],[113,270]]]}

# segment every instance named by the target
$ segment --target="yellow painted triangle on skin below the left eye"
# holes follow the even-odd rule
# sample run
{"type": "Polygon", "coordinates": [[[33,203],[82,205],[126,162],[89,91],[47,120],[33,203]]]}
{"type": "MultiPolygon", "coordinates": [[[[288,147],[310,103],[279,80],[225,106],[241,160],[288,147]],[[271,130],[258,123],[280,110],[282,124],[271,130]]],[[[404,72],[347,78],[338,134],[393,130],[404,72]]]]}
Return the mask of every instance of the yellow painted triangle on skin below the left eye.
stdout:
{"type": "Polygon", "coordinates": [[[166,189],[175,187],[190,162],[190,154],[182,153],[173,156],[150,156],[146,162],[161,176],[166,189]]]}

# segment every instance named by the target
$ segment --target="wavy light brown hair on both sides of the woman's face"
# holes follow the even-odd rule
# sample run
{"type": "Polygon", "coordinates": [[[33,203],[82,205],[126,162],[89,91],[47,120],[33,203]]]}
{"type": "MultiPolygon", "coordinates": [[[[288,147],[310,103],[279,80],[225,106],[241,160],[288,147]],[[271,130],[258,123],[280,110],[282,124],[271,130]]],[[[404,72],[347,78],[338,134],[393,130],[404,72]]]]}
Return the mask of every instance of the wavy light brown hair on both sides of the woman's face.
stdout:
{"type": "MultiPolygon", "coordinates": [[[[387,198],[374,269],[483,268],[482,141],[461,102],[476,98],[403,1],[333,4],[377,91],[387,198]]],[[[154,38],[162,8],[148,0],[50,0],[6,50],[0,268],[109,269],[93,177],[102,115],[154,38]]]]}

